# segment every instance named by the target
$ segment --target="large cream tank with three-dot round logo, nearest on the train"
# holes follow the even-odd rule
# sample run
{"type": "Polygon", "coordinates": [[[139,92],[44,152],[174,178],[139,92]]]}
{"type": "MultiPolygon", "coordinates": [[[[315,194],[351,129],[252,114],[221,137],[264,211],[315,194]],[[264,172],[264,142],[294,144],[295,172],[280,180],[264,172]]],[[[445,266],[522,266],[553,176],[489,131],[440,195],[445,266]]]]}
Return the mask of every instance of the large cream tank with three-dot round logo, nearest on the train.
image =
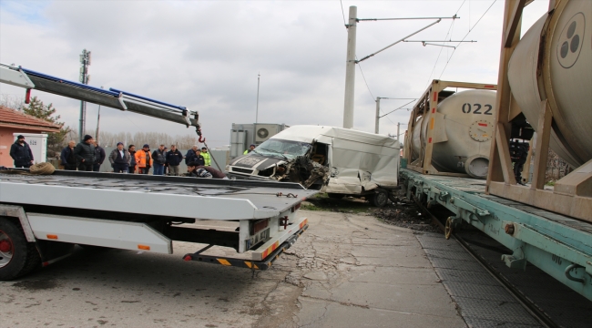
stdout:
{"type": "Polygon", "coordinates": [[[592,159],[591,39],[592,1],[569,1],[531,26],[508,65],[512,95],[533,128],[541,99],[551,101],[550,148],[574,168],[592,159]]]}

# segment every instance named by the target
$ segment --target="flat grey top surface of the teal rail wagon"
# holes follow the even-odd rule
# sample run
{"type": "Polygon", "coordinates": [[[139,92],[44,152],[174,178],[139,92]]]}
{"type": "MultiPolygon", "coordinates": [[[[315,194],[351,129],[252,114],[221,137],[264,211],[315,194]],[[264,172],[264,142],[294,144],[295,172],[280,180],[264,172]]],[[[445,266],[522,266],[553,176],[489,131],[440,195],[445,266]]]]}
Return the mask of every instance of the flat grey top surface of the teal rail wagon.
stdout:
{"type": "MultiPolygon", "coordinates": [[[[458,177],[446,177],[446,176],[436,176],[436,175],[422,175],[417,172],[414,172],[410,169],[402,169],[402,171],[410,172],[416,176],[420,176],[422,179],[430,180],[435,183],[440,183],[448,188],[453,188],[455,190],[460,190],[463,192],[467,192],[470,194],[474,194],[484,200],[495,201],[496,203],[509,206],[515,208],[517,210],[522,210],[527,213],[536,215],[538,217],[545,218],[546,220],[552,220],[556,223],[565,225],[567,227],[577,229],[578,231],[586,231],[588,233],[592,233],[592,223],[584,221],[584,220],[577,220],[570,217],[567,217],[562,214],[557,214],[552,211],[542,210],[536,208],[534,206],[526,205],[514,200],[506,200],[505,198],[494,196],[494,195],[486,195],[485,194],[485,180],[482,179],[469,179],[469,178],[458,178],[458,177]]],[[[524,187],[528,188],[528,186],[524,187]]]]}

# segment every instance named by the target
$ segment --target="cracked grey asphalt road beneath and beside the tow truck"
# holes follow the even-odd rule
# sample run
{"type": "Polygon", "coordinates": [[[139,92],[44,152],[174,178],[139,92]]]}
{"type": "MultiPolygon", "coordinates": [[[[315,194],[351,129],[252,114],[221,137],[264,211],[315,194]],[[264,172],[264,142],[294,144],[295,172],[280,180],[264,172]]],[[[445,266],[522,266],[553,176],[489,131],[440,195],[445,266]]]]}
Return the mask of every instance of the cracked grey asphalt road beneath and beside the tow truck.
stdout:
{"type": "Polygon", "coordinates": [[[254,277],[181,261],[199,250],[184,242],[173,255],[77,248],[19,281],[0,282],[0,326],[465,326],[412,231],[370,216],[301,214],[309,231],[254,277]]]}

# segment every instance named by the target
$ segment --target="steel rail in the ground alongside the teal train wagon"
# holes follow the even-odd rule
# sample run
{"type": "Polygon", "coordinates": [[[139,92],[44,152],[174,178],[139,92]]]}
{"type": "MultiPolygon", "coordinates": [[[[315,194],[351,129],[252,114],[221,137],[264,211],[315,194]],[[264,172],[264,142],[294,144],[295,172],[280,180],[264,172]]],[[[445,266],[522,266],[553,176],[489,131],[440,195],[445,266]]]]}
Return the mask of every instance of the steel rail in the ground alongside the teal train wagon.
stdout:
{"type": "MultiPolygon", "coordinates": [[[[413,201],[419,206],[420,210],[428,215],[432,221],[440,228],[441,231],[445,233],[444,224],[440,219],[434,216],[429,209],[424,207],[424,204],[417,201],[417,199],[413,197],[413,201]]],[[[504,287],[505,291],[509,292],[514,299],[519,302],[523,308],[525,308],[526,312],[530,313],[538,323],[541,323],[546,328],[558,328],[560,327],[556,324],[548,314],[546,314],[543,310],[541,310],[535,302],[530,301],[520,290],[518,290],[512,282],[509,282],[500,272],[497,272],[493,266],[491,266],[484,258],[481,257],[478,253],[473,251],[469,244],[464,241],[464,239],[456,234],[454,231],[452,233],[454,240],[458,242],[461,247],[463,247],[464,251],[467,251],[475,261],[479,262],[481,266],[495,279],[496,282],[504,287]]]]}

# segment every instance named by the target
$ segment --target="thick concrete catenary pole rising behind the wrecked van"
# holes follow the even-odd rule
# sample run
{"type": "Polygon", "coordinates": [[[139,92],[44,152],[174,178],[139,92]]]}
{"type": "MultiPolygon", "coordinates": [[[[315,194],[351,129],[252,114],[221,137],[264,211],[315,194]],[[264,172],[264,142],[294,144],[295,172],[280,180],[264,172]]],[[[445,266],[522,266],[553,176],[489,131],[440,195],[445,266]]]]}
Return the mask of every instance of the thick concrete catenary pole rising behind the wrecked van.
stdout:
{"type": "Polygon", "coordinates": [[[353,94],[355,87],[355,35],[358,7],[350,6],[350,20],[347,26],[347,58],[345,62],[345,101],[343,107],[343,128],[353,128],[353,94]]]}

